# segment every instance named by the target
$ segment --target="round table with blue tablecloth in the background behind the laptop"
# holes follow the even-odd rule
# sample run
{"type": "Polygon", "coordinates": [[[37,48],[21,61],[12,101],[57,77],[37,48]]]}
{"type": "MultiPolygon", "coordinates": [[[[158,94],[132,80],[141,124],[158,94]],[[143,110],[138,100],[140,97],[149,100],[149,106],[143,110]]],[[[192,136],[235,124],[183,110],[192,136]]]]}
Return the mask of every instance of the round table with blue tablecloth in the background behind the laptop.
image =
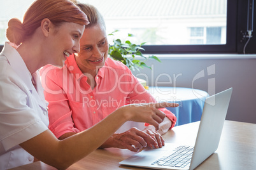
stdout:
{"type": "Polygon", "coordinates": [[[177,117],[175,126],[201,120],[206,91],[190,88],[150,87],[149,93],[160,102],[179,103],[180,107],[167,108],[177,117]]]}

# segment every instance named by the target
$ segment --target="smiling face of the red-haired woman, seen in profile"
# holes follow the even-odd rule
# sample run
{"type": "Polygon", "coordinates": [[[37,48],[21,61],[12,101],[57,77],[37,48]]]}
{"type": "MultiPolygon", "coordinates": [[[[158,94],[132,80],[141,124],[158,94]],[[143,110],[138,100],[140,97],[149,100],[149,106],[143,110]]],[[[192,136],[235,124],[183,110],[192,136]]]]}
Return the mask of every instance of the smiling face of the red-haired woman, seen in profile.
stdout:
{"type": "Polygon", "coordinates": [[[84,25],[69,22],[64,22],[56,27],[51,36],[53,43],[48,43],[47,51],[50,51],[48,63],[62,67],[69,55],[79,53],[79,42],[84,29],[84,25]]]}

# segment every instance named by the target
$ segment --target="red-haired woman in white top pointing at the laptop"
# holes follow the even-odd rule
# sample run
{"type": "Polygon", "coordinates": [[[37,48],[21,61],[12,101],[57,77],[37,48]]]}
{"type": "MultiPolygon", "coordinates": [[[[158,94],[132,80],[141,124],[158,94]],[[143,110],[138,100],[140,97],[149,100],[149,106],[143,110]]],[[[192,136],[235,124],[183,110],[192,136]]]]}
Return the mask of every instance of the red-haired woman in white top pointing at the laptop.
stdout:
{"type": "MultiPolygon", "coordinates": [[[[62,66],[80,51],[87,16],[69,0],[38,0],[24,21],[11,19],[0,53],[0,169],[34,161],[66,169],[96,150],[125,121],[148,122],[158,129],[165,115],[157,108],[174,103],[127,105],[87,131],[59,141],[48,129],[47,104],[38,76],[46,64],[62,66]]],[[[146,147],[154,143],[138,143],[146,147]]]]}

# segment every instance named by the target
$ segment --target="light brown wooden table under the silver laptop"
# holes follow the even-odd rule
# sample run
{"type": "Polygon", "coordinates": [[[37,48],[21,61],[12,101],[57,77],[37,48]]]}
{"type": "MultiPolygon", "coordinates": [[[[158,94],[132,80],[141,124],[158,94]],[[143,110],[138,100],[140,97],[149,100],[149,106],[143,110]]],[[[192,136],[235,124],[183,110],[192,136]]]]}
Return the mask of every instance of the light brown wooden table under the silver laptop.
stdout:
{"type": "MultiPolygon", "coordinates": [[[[192,145],[196,140],[199,122],[176,126],[164,134],[166,142],[182,142],[192,145]]],[[[68,169],[143,169],[121,166],[121,160],[134,152],[118,148],[98,149],[68,169]]],[[[256,167],[256,124],[225,121],[217,152],[204,160],[196,169],[255,169],[256,167]]],[[[17,169],[55,169],[43,162],[34,162],[17,169]]]]}

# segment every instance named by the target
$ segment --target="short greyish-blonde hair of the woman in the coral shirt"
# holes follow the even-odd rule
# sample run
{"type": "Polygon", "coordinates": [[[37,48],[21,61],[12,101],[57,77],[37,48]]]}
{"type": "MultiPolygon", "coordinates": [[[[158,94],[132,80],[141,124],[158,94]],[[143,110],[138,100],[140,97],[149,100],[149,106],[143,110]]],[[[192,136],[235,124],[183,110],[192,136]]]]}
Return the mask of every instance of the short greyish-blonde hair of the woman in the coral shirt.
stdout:
{"type": "Polygon", "coordinates": [[[76,5],[85,13],[85,15],[87,15],[90,22],[89,25],[86,26],[87,28],[100,24],[104,29],[106,29],[104,18],[95,6],[83,3],[76,3],[76,5]]]}

